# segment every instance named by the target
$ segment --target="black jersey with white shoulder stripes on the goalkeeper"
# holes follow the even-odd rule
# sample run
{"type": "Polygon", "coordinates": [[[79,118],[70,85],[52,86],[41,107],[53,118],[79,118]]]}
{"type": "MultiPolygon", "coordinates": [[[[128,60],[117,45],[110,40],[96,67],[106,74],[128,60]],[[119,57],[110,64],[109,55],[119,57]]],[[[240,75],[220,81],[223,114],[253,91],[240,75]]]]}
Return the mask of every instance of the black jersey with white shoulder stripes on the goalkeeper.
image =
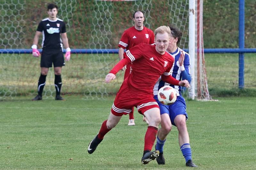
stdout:
{"type": "Polygon", "coordinates": [[[43,32],[43,49],[63,49],[60,34],[66,32],[66,25],[61,19],[57,18],[55,21],[51,21],[49,18],[45,18],[39,23],[36,31],[43,32]]]}

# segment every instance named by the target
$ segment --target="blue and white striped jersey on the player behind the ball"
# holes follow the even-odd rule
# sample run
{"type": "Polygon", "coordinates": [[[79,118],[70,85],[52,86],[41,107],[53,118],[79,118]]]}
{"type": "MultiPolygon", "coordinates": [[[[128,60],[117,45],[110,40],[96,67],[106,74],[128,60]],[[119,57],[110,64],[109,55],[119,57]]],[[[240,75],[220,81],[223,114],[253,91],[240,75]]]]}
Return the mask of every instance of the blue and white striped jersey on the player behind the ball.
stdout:
{"type": "MultiPolygon", "coordinates": [[[[171,69],[171,75],[172,77],[176,78],[177,80],[181,81],[182,80],[188,80],[188,82],[190,83],[191,81],[191,75],[190,75],[190,56],[188,53],[185,53],[185,58],[184,58],[184,67],[185,70],[183,72],[187,72],[187,74],[183,74],[186,75],[187,77],[183,77],[182,78],[182,74],[181,74],[181,70],[180,70],[180,65],[179,65],[179,58],[180,58],[180,48],[178,47],[177,50],[174,53],[170,53],[172,55],[172,57],[174,58],[174,63],[172,65],[172,69],[171,69]]],[[[158,90],[163,87],[163,86],[169,86],[169,83],[166,83],[164,81],[161,80],[161,76],[159,77],[158,81],[156,82],[155,86],[154,86],[154,95],[157,95],[158,90]]],[[[177,93],[177,96],[181,96],[181,86],[174,86],[174,85],[170,85],[172,86],[177,93]]]]}

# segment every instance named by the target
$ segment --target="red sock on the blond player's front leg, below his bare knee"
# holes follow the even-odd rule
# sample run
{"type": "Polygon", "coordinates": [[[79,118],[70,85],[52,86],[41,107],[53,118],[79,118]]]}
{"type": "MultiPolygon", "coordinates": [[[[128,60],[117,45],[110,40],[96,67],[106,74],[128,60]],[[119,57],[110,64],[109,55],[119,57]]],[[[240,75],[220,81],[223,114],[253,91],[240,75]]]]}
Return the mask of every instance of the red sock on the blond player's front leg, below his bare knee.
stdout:
{"type": "Polygon", "coordinates": [[[158,128],[154,126],[148,126],[148,130],[145,134],[144,151],[151,151],[156,140],[157,130],[158,128]]]}

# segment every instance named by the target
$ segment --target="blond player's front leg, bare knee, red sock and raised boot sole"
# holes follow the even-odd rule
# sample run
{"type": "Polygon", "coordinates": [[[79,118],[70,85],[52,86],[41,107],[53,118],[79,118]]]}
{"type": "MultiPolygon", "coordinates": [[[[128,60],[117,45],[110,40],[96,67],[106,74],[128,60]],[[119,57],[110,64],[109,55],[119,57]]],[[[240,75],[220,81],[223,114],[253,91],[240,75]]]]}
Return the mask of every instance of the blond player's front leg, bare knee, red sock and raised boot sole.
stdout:
{"type": "Polygon", "coordinates": [[[159,156],[159,151],[151,152],[151,149],[156,140],[156,134],[158,125],[161,122],[161,117],[159,108],[151,108],[145,111],[144,115],[147,117],[149,124],[145,134],[144,152],[141,162],[143,164],[148,164],[149,161],[154,160],[157,158],[157,156],[159,156]]]}

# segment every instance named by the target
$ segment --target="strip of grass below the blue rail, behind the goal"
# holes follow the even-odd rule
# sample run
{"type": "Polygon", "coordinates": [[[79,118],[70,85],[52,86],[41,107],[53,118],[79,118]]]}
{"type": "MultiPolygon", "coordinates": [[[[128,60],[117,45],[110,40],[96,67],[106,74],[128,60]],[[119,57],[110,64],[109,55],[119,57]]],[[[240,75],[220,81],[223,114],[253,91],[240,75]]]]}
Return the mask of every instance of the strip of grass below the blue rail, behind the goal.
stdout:
{"type": "MultiPolygon", "coordinates": [[[[255,54],[245,54],[244,89],[238,89],[238,54],[205,54],[208,87],[212,96],[256,96],[255,54]]],[[[106,84],[106,74],[118,62],[117,54],[72,54],[62,68],[62,93],[101,98],[115,94],[124,72],[106,84]]],[[[143,67],[143,66],[142,66],[143,67]]],[[[36,95],[40,58],[31,54],[0,54],[0,97],[36,95]]],[[[50,68],[44,97],[54,97],[54,73],[50,68]]]]}

